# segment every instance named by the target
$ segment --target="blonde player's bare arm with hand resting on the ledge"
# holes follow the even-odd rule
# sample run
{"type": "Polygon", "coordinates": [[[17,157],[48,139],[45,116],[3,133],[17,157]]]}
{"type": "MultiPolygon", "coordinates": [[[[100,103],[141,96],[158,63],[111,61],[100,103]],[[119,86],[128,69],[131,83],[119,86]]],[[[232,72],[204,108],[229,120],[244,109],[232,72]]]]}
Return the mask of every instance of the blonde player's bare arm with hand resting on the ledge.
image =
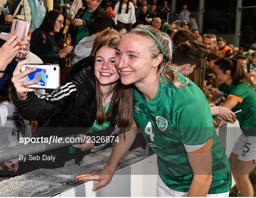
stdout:
{"type": "Polygon", "coordinates": [[[110,159],[108,163],[104,166],[104,169],[101,171],[90,171],[90,172],[81,172],[78,173],[75,178],[78,180],[97,180],[98,184],[93,186],[92,190],[100,189],[101,187],[107,185],[119,164],[119,161],[122,157],[128,152],[132,143],[134,142],[137,135],[137,125],[133,120],[131,127],[126,128],[125,132],[125,141],[124,141],[124,132],[119,133],[119,142],[116,142],[112,153],[110,155],[110,159]]]}

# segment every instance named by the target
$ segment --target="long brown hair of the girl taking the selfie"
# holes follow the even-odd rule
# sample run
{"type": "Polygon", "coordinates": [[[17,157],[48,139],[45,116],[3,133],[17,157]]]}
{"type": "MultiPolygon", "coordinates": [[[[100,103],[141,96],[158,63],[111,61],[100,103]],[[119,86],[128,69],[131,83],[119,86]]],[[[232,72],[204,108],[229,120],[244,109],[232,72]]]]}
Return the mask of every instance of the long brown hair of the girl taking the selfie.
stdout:
{"type": "MultiPolygon", "coordinates": [[[[112,49],[116,49],[119,43],[119,38],[110,38],[103,40],[97,47],[96,53],[103,46],[107,46],[112,49]]],[[[95,57],[94,56],[94,57],[95,57]]],[[[95,62],[95,58],[94,58],[95,62]]],[[[128,127],[130,126],[133,119],[133,98],[134,98],[134,88],[133,85],[122,85],[119,80],[117,85],[113,90],[112,101],[110,104],[110,109],[107,113],[104,111],[102,92],[99,80],[96,79],[96,120],[101,125],[104,121],[113,120],[113,124],[117,127],[128,127]]]]}

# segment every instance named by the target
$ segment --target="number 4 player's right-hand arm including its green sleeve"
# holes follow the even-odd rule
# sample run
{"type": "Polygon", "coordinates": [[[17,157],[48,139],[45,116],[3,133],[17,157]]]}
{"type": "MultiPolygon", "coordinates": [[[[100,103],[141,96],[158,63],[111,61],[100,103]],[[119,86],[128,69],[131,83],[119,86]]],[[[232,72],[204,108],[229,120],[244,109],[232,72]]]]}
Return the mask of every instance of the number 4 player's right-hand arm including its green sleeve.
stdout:
{"type": "MultiPolygon", "coordinates": [[[[179,98],[182,98],[182,95],[179,98]]],[[[200,95],[190,95],[189,98],[192,101],[189,104],[175,101],[174,118],[187,152],[190,165],[187,169],[191,168],[193,173],[188,196],[206,197],[212,181],[211,147],[215,130],[206,99],[200,95]]]]}

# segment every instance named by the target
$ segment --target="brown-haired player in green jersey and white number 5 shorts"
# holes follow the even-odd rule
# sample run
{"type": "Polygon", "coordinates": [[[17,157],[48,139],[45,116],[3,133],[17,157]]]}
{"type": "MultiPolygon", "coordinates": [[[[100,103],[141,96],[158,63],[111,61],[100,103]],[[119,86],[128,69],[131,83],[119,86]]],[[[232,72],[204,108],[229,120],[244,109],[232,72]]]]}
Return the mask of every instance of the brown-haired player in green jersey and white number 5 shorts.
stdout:
{"type": "Polygon", "coordinates": [[[235,59],[219,59],[214,73],[219,80],[219,96],[226,94],[222,106],[241,111],[237,119],[242,130],[229,157],[234,179],[241,196],[253,197],[254,189],[249,174],[256,167],[256,87],[235,59]],[[223,88],[221,88],[223,87],[223,88]]]}

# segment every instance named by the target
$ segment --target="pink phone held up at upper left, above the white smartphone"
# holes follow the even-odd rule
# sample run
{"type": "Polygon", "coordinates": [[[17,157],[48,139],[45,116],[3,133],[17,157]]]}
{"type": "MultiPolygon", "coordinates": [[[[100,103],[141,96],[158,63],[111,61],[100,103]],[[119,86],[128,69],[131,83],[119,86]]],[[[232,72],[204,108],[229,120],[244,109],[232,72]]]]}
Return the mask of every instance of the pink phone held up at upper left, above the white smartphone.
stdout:
{"type": "MultiPolygon", "coordinates": [[[[18,34],[17,42],[20,42],[24,36],[27,36],[30,23],[27,21],[14,19],[11,26],[11,35],[18,34]]],[[[22,58],[21,53],[18,53],[16,57],[22,58]]]]}

